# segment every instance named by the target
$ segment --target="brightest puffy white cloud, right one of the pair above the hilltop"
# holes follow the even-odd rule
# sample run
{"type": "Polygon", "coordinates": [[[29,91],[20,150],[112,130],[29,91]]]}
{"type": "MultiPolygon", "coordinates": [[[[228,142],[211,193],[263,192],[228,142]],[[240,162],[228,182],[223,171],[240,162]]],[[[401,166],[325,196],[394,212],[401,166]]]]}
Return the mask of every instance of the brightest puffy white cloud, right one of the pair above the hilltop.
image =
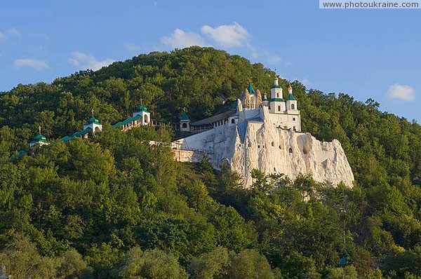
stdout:
{"type": "Polygon", "coordinates": [[[234,22],[233,25],[220,25],[216,28],[205,25],[201,27],[201,33],[225,48],[246,46],[248,31],[246,28],[234,22]]]}

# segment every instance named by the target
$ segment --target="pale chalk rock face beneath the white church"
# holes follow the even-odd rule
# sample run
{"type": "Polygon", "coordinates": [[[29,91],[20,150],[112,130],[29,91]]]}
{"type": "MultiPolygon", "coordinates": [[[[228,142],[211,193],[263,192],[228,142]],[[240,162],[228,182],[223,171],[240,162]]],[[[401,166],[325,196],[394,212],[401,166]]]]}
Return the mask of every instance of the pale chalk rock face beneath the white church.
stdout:
{"type": "MultiPolygon", "coordinates": [[[[262,113],[269,112],[263,109],[262,113]]],[[[178,147],[207,153],[217,169],[227,163],[243,176],[245,186],[253,183],[251,170],[258,169],[291,179],[309,174],[318,182],[344,182],[352,187],[354,175],[338,140],[320,142],[308,132],[276,128],[262,116],[186,137],[178,141],[178,147]]]]}

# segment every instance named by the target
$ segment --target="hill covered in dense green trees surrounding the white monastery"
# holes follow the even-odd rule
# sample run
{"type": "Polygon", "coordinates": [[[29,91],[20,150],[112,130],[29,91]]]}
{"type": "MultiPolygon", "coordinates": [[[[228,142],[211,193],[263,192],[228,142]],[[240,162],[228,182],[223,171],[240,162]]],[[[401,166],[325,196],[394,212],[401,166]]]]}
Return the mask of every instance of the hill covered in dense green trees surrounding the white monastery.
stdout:
{"type": "Polygon", "coordinates": [[[0,275],[421,276],[421,127],[374,100],[292,82],[302,130],[340,140],[356,178],[352,190],[259,172],[245,190],[234,173],[178,164],[166,147],[147,144],[171,140],[167,128],[122,133],[107,124],[140,100],[153,118],[177,121],[186,110],[197,120],[227,109],[249,80],[269,93],[273,79],[262,64],[192,47],[2,93],[0,275]],[[53,140],[16,159],[39,125],[49,139],[60,138],[80,130],[91,109],[104,132],[53,140]],[[308,193],[316,194],[305,203],[308,193]]]}

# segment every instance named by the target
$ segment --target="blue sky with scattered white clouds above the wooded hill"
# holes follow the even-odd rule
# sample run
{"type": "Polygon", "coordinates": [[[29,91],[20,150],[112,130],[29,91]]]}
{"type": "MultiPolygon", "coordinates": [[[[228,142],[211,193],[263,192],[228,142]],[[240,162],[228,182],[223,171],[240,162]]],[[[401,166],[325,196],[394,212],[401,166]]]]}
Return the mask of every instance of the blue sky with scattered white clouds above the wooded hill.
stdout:
{"type": "Polygon", "coordinates": [[[140,53],[213,46],[421,122],[420,9],[319,9],[316,0],[2,2],[0,92],[140,53]]]}

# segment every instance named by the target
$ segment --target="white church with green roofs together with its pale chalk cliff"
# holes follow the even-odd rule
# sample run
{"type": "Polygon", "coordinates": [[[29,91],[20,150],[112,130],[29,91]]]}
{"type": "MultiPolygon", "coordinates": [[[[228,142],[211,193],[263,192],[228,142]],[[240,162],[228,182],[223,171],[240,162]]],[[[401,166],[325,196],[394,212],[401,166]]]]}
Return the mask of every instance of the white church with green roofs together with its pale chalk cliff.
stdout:
{"type": "Polygon", "coordinates": [[[283,173],[291,179],[312,175],[319,182],[352,187],[354,175],[340,142],[320,142],[301,130],[301,116],[293,88],[283,95],[276,77],[270,99],[251,83],[236,101],[236,109],[201,121],[180,119],[180,130],[193,135],[172,143],[175,159],[199,162],[210,158],[213,168],[226,164],[253,183],[251,171],[283,173]]]}

